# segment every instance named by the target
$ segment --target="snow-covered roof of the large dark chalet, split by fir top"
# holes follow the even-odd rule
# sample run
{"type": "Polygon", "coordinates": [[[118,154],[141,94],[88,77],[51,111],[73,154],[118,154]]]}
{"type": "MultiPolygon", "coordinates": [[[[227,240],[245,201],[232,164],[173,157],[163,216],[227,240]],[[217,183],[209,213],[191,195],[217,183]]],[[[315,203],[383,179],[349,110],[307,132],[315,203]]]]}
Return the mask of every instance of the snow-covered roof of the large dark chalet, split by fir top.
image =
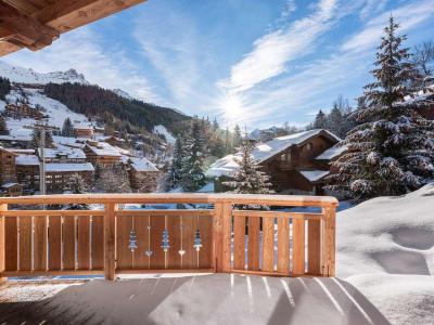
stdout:
{"type": "MultiPolygon", "coordinates": [[[[323,129],[315,129],[309,131],[304,131],[291,135],[279,136],[271,141],[267,141],[265,143],[258,143],[252,152],[252,156],[258,161],[258,164],[276,156],[280,152],[286,150],[292,145],[298,145],[305,142],[306,140],[320,134],[321,132],[326,132],[330,136],[332,136],[336,142],[341,141],[339,136],[323,129]]],[[[239,166],[234,161],[234,158],[241,158],[241,154],[228,155],[222,157],[221,159],[216,160],[209,169],[206,171],[206,177],[218,178],[221,176],[229,176],[233,170],[235,170],[239,166]]]]}

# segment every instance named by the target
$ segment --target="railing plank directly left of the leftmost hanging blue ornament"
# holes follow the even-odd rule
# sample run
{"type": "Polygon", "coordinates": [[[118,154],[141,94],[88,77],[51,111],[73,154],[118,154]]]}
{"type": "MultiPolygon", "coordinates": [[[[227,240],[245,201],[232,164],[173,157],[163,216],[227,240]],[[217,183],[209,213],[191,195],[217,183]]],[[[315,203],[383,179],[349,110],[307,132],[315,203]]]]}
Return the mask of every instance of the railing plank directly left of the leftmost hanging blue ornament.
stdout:
{"type": "Polygon", "coordinates": [[[132,269],[132,252],[128,247],[131,230],[132,217],[116,217],[116,270],[132,269]]]}

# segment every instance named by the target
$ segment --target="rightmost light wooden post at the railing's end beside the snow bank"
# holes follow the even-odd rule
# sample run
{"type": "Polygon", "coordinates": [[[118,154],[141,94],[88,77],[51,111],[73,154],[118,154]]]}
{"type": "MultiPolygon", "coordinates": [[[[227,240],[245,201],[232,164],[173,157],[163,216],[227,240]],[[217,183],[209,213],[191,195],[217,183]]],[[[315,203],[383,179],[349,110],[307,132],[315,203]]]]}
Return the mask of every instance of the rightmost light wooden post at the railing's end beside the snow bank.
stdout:
{"type": "Polygon", "coordinates": [[[336,262],[336,207],[322,208],[324,214],[322,274],[335,276],[336,262]]]}

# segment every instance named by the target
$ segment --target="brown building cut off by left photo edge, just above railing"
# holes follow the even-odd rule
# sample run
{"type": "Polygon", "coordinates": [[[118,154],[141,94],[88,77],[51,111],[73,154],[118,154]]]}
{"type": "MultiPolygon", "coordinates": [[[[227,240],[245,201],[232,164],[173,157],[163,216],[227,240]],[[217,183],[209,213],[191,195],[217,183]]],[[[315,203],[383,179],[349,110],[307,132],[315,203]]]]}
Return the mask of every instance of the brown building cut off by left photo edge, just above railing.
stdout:
{"type": "Polygon", "coordinates": [[[0,146],[0,196],[18,196],[23,187],[16,182],[16,154],[0,146]]]}

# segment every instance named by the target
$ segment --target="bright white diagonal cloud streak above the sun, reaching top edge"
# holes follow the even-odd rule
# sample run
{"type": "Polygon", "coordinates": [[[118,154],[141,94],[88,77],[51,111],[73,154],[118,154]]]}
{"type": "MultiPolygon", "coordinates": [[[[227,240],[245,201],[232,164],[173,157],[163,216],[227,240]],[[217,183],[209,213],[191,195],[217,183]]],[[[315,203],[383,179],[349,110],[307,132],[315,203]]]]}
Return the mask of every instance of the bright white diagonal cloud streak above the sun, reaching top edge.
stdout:
{"type": "Polygon", "coordinates": [[[229,80],[219,84],[243,91],[284,73],[288,62],[310,52],[330,29],[336,6],[336,0],[321,0],[309,16],[257,39],[253,51],[232,66],[229,80]]]}

